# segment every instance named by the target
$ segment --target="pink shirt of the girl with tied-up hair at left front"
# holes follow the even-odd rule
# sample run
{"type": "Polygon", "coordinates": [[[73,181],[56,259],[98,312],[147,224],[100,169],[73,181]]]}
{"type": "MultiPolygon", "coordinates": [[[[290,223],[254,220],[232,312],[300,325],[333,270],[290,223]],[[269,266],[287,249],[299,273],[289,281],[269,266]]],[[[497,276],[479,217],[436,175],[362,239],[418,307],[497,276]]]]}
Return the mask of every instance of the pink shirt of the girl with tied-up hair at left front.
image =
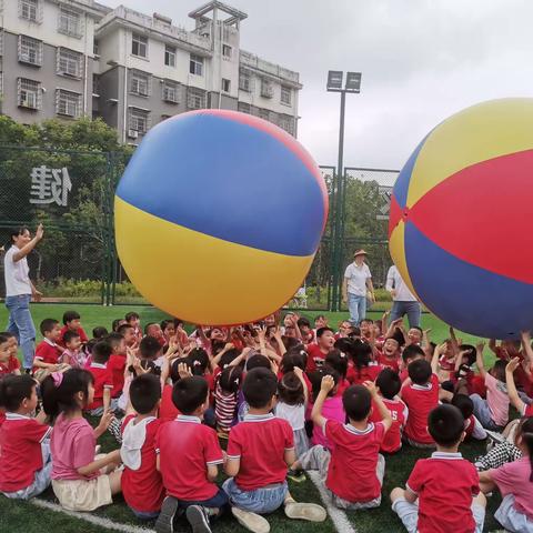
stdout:
{"type": "Polygon", "coordinates": [[[61,413],[52,430],[52,480],[92,480],[100,475],[93,472],[81,475],[78,469],[94,461],[94,431],[86,419],[67,419],[61,413]]]}

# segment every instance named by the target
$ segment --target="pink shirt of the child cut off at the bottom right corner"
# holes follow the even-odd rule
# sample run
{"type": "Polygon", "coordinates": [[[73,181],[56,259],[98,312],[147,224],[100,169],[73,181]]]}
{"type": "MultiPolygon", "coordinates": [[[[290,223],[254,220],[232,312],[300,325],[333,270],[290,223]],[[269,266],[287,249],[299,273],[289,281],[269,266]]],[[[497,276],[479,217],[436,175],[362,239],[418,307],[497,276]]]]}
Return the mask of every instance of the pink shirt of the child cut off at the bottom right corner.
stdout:
{"type": "Polygon", "coordinates": [[[489,471],[494,483],[500,489],[502,497],[514,495],[514,507],[529,520],[533,521],[533,497],[531,475],[531,461],[529,456],[506,463],[499,469],[489,471]]]}

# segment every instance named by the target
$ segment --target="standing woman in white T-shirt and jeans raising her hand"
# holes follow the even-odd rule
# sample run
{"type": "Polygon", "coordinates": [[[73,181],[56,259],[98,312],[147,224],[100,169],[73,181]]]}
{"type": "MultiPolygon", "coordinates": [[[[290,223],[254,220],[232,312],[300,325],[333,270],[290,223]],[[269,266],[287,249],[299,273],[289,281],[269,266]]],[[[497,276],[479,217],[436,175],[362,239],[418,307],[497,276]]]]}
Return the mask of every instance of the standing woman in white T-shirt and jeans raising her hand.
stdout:
{"type": "Polygon", "coordinates": [[[23,368],[30,370],[36,353],[36,326],[30,313],[31,298],[40,301],[42,294],[30,280],[28,254],[42,239],[44,230],[39,224],[33,239],[28,228],[17,228],[11,231],[11,247],[3,258],[6,279],[6,308],[9,311],[8,331],[19,341],[23,355],[23,368]]]}

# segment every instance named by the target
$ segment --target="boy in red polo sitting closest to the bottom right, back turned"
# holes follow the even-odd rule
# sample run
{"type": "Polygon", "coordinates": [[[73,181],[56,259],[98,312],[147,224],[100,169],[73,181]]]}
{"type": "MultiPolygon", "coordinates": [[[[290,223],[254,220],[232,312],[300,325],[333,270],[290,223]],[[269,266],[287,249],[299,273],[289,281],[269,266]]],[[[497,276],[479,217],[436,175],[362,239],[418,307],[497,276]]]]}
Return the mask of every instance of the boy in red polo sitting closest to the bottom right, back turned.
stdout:
{"type": "Polygon", "coordinates": [[[428,423],[436,452],[416,461],[405,490],[392,491],[392,510],[409,533],[481,533],[486,500],[480,494],[474,465],[459,453],[463,415],[457,408],[443,404],[430,413],[428,423]]]}

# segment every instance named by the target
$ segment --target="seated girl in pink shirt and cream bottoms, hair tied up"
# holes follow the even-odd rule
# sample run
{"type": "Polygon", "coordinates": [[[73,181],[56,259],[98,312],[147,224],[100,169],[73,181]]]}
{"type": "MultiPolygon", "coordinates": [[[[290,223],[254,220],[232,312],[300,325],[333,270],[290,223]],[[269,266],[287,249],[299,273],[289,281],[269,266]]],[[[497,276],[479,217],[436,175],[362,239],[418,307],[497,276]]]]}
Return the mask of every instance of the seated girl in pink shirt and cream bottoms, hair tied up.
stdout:
{"type": "Polygon", "coordinates": [[[93,400],[93,382],[87,370],[71,369],[54,372],[41,385],[44,412],[56,420],[50,441],[52,487],[69,511],[93,511],[112,503],[112,495],[120,492],[122,472],[115,470],[120,450],[94,456],[97,439],[105,432],[112,414],[104,412],[95,429],[83,418],[93,400]]]}

